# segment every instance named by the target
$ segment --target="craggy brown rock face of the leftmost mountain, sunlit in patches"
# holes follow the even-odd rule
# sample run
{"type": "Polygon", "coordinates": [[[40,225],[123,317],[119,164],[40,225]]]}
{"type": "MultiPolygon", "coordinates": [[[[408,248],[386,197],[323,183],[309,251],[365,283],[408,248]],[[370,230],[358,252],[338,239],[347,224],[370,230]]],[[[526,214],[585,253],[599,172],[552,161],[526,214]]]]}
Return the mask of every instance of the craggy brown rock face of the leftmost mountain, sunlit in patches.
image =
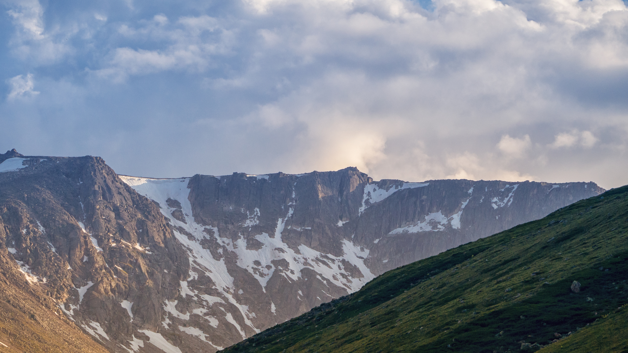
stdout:
{"type": "Polygon", "coordinates": [[[107,349],[143,339],[155,350],[143,332],[158,330],[163,302],[175,300],[189,269],[158,206],[100,158],[11,156],[0,170],[6,266],[107,349]],[[7,162],[17,167],[6,171],[7,162]]]}

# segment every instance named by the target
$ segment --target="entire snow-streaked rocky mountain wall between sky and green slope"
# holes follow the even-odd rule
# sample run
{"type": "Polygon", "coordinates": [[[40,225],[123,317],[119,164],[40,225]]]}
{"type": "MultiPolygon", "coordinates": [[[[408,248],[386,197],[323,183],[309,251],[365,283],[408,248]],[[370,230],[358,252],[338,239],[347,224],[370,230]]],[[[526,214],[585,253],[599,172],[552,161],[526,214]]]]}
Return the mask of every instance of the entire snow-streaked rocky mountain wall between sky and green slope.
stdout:
{"type": "Polygon", "coordinates": [[[97,157],[16,151],[0,163],[0,266],[17,274],[5,283],[41,293],[38,310],[114,352],[212,352],[384,271],[604,191],[374,182],[356,168],[151,179],[118,176],[97,157]]]}

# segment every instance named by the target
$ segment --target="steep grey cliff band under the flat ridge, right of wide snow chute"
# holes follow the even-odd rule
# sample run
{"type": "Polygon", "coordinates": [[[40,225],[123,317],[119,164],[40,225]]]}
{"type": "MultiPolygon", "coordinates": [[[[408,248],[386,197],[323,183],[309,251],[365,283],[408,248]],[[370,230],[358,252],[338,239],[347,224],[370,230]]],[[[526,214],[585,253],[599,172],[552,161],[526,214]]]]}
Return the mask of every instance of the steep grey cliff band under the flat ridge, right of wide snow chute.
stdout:
{"type": "Polygon", "coordinates": [[[272,237],[279,226],[290,249],[305,245],[337,257],[345,253],[344,242],[351,242],[368,252],[364,263],[373,275],[604,192],[592,182],[374,182],[356,168],[195,175],[187,183],[195,220],[217,227],[221,237],[242,237],[247,248],[257,249],[263,246],[259,234],[272,237]]]}

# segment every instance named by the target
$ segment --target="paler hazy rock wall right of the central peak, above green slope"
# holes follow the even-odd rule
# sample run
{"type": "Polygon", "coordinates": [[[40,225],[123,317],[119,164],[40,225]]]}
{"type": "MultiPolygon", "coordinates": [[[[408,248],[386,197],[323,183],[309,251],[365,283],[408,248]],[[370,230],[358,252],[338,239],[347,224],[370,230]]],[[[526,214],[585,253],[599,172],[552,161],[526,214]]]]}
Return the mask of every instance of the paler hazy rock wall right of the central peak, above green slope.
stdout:
{"type": "Polygon", "coordinates": [[[344,225],[361,246],[369,248],[367,264],[374,273],[540,219],[604,192],[592,182],[430,180],[403,189],[408,184],[390,180],[369,184],[364,189],[364,213],[344,225]],[[389,196],[369,204],[373,197],[368,194],[379,200],[382,190],[389,196]]]}

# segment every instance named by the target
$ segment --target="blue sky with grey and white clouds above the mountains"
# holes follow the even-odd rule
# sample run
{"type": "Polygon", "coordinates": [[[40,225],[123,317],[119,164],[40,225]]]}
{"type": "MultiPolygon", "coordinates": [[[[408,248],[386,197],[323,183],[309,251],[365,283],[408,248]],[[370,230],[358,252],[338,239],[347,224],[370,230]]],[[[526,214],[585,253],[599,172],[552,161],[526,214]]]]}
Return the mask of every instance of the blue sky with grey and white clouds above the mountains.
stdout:
{"type": "Polygon", "coordinates": [[[3,151],[155,177],[628,183],[621,0],[0,3],[3,151]]]}

